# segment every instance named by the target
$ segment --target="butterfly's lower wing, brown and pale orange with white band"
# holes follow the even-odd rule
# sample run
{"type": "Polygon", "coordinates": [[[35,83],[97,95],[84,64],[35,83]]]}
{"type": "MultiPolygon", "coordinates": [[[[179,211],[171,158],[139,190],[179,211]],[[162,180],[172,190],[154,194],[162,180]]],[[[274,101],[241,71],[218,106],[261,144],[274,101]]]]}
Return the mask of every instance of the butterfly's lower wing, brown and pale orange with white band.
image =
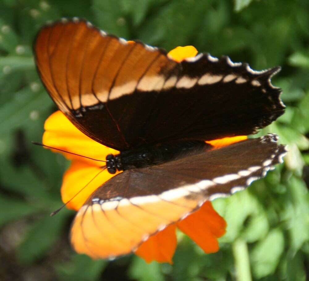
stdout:
{"type": "Polygon", "coordinates": [[[93,192],[78,211],[71,243],[78,253],[93,258],[130,253],[205,200],[230,195],[265,176],[285,153],[270,134],[124,171],[93,192]]]}

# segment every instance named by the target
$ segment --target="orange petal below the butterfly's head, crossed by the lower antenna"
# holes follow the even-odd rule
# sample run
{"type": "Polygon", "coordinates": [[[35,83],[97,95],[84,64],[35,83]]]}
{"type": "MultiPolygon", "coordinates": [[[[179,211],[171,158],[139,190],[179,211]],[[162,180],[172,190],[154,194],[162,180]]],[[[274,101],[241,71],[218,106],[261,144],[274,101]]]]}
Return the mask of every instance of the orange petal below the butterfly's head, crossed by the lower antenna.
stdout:
{"type": "MultiPolygon", "coordinates": [[[[74,160],[69,169],[67,169],[63,175],[61,186],[61,198],[63,203],[66,203],[72,199],[74,195],[76,195],[86,184],[88,184],[100,171],[102,171],[102,168],[98,166],[93,166],[87,162],[74,160]]],[[[79,210],[91,193],[114,175],[108,173],[105,169],[66,205],[67,208],[79,210]]]]}

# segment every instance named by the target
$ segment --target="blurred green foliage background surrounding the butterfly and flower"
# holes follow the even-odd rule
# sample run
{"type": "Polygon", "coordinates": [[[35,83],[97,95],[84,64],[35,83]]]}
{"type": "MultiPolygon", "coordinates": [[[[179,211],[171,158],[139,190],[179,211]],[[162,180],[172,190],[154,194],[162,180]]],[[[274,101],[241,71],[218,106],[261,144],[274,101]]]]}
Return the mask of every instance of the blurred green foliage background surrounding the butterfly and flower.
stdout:
{"type": "Polygon", "coordinates": [[[306,280],[308,15],[309,2],[301,0],[0,1],[0,280],[306,280]],[[259,135],[279,134],[290,152],[265,179],[214,201],[228,225],[218,253],[206,255],[178,233],[173,265],[133,255],[92,261],[70,249],[74,212],[49,217],[61,205],[69,163],[30,143],[41,140],[44,120],[56,110],[31,45],[40,26],[63,16],[167,50],[194,45],[256,70],[282,66],[273,84],[283,89],[286,113],[259,135]]]}

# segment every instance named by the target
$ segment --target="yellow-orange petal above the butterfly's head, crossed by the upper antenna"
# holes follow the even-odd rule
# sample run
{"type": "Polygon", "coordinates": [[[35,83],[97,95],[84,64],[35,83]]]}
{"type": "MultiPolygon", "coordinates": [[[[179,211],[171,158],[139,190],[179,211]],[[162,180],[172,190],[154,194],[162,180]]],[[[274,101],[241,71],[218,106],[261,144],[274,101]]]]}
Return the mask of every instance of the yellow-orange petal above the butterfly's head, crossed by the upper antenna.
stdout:
{"type": "MultiPolygon", "coordinates": [[[[79,131],[61,111],[56,111],[46,119],[44,124],[43,144],[63,149],[83,156],[105,160],[107,154],[117,154],[117,150],[101,145],[79,131]]],[[[53,152],[59,152],[53,150],[53,152]]],[[[62,152],[61,152],[62,153],[62,152]]],[[[68,159],[86,161],[95,166],[104,162],[93,161],[69,153],[62,153],[68,159]]]]}

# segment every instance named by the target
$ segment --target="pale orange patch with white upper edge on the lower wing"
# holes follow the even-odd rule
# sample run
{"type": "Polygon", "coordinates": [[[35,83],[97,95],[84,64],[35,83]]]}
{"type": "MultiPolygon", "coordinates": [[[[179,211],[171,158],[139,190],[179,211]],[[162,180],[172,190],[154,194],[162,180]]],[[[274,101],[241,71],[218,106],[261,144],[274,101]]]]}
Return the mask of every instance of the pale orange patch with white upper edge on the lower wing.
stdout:
{"type": "Polygon", "coordinates": [[[92,258],[113,258],[137,250],[150,235],[162,231],[198,207],[196,198],[135,197],[84,205],[71,228],[71,243],[78,253],[92,258]]]}

